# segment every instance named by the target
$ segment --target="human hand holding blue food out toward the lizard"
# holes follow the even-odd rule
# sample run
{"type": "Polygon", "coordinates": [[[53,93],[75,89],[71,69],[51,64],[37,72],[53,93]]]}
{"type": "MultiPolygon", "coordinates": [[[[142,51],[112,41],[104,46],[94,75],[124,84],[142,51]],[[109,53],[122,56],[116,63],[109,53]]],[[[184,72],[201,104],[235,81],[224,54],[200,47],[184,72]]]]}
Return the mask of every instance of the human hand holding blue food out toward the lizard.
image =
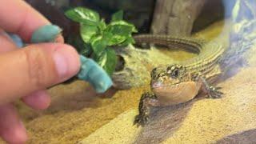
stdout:
{"type": "Polygon", "coordinates": [[[76,50],[59,43],[43,43],[18,49],[4,31],[30,42],[34,30],[49,24],[41,14],[21,0],[0,1],[0,136],[9,143],[26,142],[26,129],[11,104],[21,98],[37,110],[50,105],[46,88],[78,73],[76,50]]]}

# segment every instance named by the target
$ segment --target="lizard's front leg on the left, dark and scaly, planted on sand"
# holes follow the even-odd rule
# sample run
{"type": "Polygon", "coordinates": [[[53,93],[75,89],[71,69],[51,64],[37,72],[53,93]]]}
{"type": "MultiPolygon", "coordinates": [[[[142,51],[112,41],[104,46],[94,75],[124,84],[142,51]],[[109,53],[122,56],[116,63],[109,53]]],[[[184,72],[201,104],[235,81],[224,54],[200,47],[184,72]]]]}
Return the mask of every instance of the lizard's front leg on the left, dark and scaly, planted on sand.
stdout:
{"type": "Polygon", "coordinates": [[[149,119],[150,106],[158,106],[158,99],[153,93],[144,93],[138,105],[139,114],[135,117],[134,124],[144,126],[149,119]]]}

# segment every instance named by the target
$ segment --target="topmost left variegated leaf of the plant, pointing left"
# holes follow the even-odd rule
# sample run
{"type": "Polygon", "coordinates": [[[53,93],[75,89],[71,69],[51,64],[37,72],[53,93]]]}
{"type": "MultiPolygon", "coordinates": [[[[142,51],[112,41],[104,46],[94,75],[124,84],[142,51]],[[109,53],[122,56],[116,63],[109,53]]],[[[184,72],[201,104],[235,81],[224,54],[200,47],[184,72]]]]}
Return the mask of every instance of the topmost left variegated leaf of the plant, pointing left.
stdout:
{"type": "Polygon", "coordinates": [[[74,22],[82,22],[87,25],[96,25],[100,20],[97,12],[84,7],[76,7],[74,9],[67,10],[65,15],[74,22]]]}

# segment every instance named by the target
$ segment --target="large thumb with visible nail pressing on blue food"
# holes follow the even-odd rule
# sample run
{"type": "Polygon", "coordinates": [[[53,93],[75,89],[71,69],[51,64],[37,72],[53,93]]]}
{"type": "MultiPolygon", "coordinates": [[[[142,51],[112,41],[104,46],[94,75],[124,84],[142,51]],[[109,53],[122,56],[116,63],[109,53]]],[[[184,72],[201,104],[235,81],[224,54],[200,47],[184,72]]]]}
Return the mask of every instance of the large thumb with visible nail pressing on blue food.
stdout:
{"type": "Polygon", "coordinates": [[[64,82],[78,73],[79,56],[60,43],[26,46],[0,55],[0,105],[64,82]]]}

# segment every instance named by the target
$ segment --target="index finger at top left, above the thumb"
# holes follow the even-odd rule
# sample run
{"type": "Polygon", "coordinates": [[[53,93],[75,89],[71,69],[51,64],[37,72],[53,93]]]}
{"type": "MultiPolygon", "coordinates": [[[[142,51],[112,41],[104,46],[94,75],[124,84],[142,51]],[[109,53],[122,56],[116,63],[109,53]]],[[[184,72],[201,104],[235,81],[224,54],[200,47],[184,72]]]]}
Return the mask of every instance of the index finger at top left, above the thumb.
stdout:
{"type": "Polygon", "coordinates": [[[50,22],[23,0],[0,1],[0,27],[30,42],[34,30],[50,22]]]}

